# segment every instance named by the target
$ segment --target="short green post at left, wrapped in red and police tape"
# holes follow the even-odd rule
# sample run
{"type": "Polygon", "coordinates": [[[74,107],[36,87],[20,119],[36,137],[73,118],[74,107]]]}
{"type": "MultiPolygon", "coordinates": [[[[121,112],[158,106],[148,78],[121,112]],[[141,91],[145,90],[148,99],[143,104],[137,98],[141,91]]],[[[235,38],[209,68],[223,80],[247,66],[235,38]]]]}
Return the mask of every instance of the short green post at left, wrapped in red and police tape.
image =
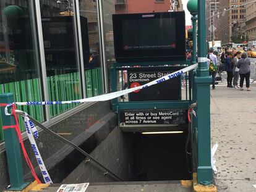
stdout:
{"type": "MultiPolygon", "coordinates": [[[[0,94],[0,103],[14,102],[14,94],[3,93],[0,94]]],[[[15,125],[13,115],[7,116],[4,113],[4,107],[1,107],[2,126],[15,125]]],[[[24,182],[22,170],[22,158],[20,154],[20,143],[14,128],[7,128],[4,130],[4,140],[6,146],[6,156],[9,178],[11,183],[10,191],[23,190],[29,183],[24,182]]]]}

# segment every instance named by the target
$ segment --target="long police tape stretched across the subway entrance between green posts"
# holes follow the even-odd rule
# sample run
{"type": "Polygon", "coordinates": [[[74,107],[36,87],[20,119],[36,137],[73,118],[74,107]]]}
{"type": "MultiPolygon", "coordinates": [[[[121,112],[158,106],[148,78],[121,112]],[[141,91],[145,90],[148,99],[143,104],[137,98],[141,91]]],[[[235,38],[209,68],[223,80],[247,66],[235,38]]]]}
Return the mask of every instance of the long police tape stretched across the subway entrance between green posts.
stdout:
{"type": "Polygon", "coordinates": [[[134,91],[142,90],[149,86],[156,85],[158,83],[163,83],[164,81],[168,81],[172,78],[182,75],[183,73],[189,72],[190,70],[197,68],[197,65],[198,64],[190,65],[189,67],[185,67],[184,69],[177,70],[176,72],[165,75],[164,77],[160,77],[142,86],[137,86],[137,87],[129,88],[127,90],[122,90],[122,91],[116,91],[113,93],[102,94],[100,96],[95,96],[92,98],[79,99],[75,101],[27,101],[27,102],[15,102],[15,104],[19,106],[29,106],[29,105],[54,105],[54,104],[72,104],[72,103],[84,103],[84,102],[95,102],[95,101],[108,101],[114,98],[119,98],[124,94],[132,93],[134,91]]]}

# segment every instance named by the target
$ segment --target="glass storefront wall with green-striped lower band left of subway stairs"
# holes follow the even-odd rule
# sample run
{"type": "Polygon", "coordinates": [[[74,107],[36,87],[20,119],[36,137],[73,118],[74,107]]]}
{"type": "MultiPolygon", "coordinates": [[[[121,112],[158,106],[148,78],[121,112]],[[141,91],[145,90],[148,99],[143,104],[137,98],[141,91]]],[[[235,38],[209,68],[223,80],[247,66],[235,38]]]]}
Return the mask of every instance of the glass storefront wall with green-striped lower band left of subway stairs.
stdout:
{"type": "MultiPolygon", "coordinates": [[[[115,4],[114,0],[1,1],[0,93],[14,93],[15,101],[70,101],[106,93],[109,65],[114,62],[115,4]]],[[[51,124],[79,106],[19,109],[51,124]]],[[[23,123],[20,127],[25,130],[23,123]]]]}

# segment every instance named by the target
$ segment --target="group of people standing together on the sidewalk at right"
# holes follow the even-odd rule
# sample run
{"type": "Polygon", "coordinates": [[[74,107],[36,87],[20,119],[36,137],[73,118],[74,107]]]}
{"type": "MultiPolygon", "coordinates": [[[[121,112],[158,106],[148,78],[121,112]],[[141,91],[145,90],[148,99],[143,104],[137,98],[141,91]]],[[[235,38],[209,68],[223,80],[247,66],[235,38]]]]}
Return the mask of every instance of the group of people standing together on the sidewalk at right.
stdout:
{"type": "MultiPolygon", "coordinates": [[[[214,50],[210,49],[207,55],[210,61],[210,65],[213,64],[218,66],[218,58],[214,54],[214,50]]],[[[220,58],[221,65],[224,65],[224,70],[227,72],[227,87],[239,90],[244,90],[244,79],[246,81],[247,91],[250,91],[250,59],[247,57],[246,52],[237,51],[235,54],[233,52],[223,52],[220,58]],[[238,79],[240,76],[240,83],[238,84],[238,79]],[[240,86],[239,86],[240,85],[240,86]]],[[[210,69],[210,67],[209,67],[210,69]]],[[[216,84],[216,73],[217,70],[210,70],[210,75],[212,77],[212,88],[215,89],[216,84]]]]}

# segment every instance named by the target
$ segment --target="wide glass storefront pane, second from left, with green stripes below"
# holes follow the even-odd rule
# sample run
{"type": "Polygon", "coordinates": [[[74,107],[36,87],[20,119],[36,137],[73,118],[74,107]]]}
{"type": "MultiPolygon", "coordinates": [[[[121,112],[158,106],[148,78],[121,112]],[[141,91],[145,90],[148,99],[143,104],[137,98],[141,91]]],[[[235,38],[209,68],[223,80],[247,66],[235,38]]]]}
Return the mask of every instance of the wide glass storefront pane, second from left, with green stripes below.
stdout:
{"type": "MultiPolygon", "coordinates": [[[[40,0],[40,9],[49,100],[81,99],[74,1],[40,0]]],[[[75,104],[50,106],[50,117],[74,106],[75,104]]]]}

